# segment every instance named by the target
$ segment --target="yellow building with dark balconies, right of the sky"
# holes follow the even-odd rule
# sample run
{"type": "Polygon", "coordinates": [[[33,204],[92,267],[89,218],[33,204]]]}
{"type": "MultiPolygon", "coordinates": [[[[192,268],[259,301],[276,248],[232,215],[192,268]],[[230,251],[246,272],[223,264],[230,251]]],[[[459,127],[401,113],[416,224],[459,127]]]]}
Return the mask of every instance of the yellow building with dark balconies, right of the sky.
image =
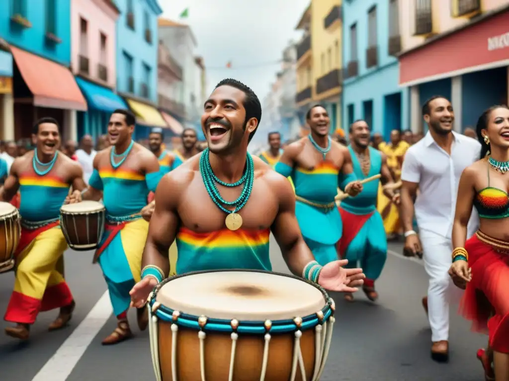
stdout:
{"type": "Polygon", "coordinates": [[[297,29],[297,107],[305,114],[315,103],[330,115],[331,133],[341,128],[342,17],[341,0],[312,0],[297,29]]]}

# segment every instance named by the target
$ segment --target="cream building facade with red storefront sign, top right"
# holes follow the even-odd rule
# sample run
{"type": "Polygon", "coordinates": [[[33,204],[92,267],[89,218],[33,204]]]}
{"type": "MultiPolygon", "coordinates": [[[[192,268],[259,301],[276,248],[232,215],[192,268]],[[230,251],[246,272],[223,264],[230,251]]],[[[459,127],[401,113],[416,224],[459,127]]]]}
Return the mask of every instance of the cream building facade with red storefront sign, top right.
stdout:
{"type": "Polygon", "coordinates": [[[401,2],[399,20],[399,83],[410,89],[412,130],[426,130],[421,107],[437,94],[451,100],[458,132],[486,108],[507,104],[507,1],[401,2]]]}

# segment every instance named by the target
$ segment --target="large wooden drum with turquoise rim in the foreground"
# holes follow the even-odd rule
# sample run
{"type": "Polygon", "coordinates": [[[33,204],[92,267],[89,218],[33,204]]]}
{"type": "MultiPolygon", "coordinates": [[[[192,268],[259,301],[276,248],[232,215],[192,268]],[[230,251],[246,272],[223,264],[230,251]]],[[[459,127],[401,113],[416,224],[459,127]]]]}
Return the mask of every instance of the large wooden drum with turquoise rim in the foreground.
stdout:
{"type": "Polygon", "coordinates": [[[219,270],[162,281],[148,308],[158,381],[316,381],[335,307],[302,278],[219,270]]]}

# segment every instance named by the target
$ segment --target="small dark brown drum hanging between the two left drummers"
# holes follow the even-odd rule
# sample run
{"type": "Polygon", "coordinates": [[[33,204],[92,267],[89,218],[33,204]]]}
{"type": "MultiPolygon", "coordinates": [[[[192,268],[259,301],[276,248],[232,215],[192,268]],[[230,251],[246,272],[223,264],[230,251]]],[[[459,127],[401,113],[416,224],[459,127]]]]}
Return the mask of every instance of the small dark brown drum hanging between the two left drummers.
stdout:
{"type": "Polygon", "coordinates": [[[104,234],[105,220],[106,209],[97,201],[81,201],[60,208],[62,233],[74,250],[97,248],[104,234]]]}

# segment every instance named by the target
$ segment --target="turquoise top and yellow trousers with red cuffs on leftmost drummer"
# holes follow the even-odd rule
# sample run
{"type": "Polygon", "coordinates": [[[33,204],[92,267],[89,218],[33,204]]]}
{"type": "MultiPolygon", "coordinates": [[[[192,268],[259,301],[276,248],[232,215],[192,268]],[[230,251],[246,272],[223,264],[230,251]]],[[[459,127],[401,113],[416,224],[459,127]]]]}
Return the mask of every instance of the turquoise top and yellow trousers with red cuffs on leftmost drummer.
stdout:
{"type": "Polygon", "coordinates": [[[67,242],[59,224],[69,184],[53,166],[43,175],[33,167],[18,174],[21,239],[15,253],[14,291],[4,317],[13,323],[33,324],[39,312],[68,306],[73,300],[63,276],[67,242]]]}

